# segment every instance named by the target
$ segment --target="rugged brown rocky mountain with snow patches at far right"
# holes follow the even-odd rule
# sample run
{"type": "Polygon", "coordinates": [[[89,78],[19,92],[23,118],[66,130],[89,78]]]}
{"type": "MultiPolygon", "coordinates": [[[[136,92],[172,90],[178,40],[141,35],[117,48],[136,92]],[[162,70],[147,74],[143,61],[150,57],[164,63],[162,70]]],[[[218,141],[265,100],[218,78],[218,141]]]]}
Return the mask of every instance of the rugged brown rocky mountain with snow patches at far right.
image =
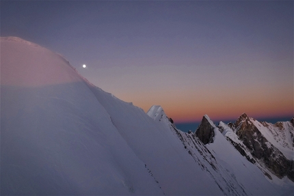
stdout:
{"type": "Polygon", "coordinates": [[[220,122],[219,129],[248,160],[263,165],[269,179],[277,176],[294,181],[293,119],[270,124],[243,113],[234,124],[226,126],[220,122]]]}

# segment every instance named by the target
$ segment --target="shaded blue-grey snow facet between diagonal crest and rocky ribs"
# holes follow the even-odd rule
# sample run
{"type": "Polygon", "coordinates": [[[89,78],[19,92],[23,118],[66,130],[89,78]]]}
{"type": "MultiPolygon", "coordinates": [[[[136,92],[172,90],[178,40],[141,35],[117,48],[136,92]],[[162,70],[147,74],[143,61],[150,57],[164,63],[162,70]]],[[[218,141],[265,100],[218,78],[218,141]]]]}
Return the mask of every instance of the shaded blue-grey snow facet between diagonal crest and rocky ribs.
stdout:
{"type": "Polygon", "coordinates": [[[170,132],[163,109],[142,109],[111,98],[103,91],[93,92],[109,112],[113,124],[135,154],[146,164],[166,195],[223,195],[214,180],[195,164],[181,141],[170,132]]]}

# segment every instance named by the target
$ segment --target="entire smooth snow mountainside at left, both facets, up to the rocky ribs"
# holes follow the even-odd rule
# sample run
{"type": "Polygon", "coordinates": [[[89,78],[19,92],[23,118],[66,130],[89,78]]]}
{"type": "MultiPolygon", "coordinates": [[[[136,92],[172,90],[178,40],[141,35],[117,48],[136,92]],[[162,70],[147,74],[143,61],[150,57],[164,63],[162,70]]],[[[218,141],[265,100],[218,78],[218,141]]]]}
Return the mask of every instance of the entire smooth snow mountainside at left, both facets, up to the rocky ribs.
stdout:
{"type": "Polygon", "coordinates": [[[222,191],[142,109],[60,55],[1,39],[1,195],[163,194],[222,191]]]}

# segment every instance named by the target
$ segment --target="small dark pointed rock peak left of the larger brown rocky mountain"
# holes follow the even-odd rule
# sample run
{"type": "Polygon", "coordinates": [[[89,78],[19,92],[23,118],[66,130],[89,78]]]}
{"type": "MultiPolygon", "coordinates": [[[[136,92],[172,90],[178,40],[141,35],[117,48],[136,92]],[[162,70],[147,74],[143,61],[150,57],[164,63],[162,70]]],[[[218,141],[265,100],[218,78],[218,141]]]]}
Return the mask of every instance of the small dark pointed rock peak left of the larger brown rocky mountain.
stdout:
{"type": "Polygon", "coordinates": [[[200,141],[202,141],[202,143],[213,143],[213,138],[215,137],[214,129],[215,124],[213,124],[208,115],[204,115],[195,134],[200,139],[200,141]]]}

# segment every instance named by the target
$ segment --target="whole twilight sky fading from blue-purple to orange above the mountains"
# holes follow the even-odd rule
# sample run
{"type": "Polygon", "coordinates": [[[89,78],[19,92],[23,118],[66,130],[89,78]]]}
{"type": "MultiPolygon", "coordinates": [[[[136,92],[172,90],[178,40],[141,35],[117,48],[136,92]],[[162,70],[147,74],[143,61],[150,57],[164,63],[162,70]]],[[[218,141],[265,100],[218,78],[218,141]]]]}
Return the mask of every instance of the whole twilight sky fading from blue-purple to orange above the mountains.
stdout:
{"type": "Polygon", "coordinates": [[[293,1],[1,1],[1,36],[175,122],[294,116],[293,1]]]}

